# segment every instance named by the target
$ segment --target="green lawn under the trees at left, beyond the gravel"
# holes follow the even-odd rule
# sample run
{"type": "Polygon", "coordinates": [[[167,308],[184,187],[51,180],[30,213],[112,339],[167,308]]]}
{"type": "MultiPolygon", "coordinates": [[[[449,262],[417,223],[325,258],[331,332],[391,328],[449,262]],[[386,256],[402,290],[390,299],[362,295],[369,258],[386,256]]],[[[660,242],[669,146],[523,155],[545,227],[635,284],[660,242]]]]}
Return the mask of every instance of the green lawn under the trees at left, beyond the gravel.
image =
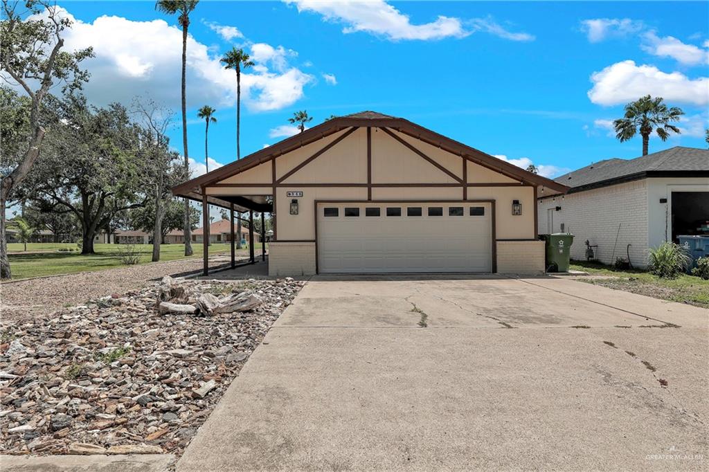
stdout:
{"type": "MultiPolygon", "coordinates": [[[[94,245],[96,254],[80,254],[79,252],[60,252],[60,247],[72,247],[75,244],[54,244],[54,243],[31,243],[27,245],[28,252],[35,251],[34,254],[13,254],[21,251],[23,245],[11,243],[8,245],[10,267],[13,279],[27,279],[28,277],[40,277],[57,274],[76,274],[77,272],[98,271],[103,269],[113,269],[125,267],[118,259],[118,250],[121,245],[94,245]],[[19,249],[18,249],[19,246],[19,249]]],[[[202,245],[193,244],[194,256],[202,256],[202,245]]],[[[267,245],[268,247],[268,245],[267,245]]],[[[140,252],[140,264],[150,263],[152,258],[152,245],[135,245],[140,252]]],[[[213,244],[209,247],[209,254],[221,254],[230,252],[230,245],[213,244]]],[[[261,252],[261,244],[255,246],[256,254],[261,252]]],[[[160,247],[160,261],[172,261],[184,258],[183,245],[162,245],[160,247]]]]}

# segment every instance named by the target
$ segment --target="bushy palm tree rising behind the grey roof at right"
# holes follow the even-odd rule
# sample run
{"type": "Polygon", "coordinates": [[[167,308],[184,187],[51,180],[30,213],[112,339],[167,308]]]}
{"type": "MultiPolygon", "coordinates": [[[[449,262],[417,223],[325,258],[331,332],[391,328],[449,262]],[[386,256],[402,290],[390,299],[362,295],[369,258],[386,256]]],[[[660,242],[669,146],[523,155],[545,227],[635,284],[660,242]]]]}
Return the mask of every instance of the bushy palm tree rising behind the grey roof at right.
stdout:
{"type": "Polygon", "coordinates": [[[642,155],[647,156],[647,144],[652,131],[657,131],[661,140],[666,141],[669,133],[679,134],[679,128],[670,123],[679,121],[684,112],[676,106],[668,107],[662,97],[652,98],[649,95],[637,101],[631,101],[625,106],[623,118],[613,121],[615,137],[620,142],[630,140],[635,133],[642,136],[642,155]]]}

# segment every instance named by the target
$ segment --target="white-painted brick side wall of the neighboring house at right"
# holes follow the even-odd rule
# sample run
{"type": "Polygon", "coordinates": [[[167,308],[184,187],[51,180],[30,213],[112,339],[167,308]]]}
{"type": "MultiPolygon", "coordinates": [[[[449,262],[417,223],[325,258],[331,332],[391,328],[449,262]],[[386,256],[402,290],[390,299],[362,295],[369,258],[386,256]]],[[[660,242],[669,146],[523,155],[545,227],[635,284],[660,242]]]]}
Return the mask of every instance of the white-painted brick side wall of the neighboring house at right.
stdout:
{"type": "Polygon", "coordinates": [[[613,264],[615,258],[627,257],[625,248],[630,247],[630,261],[633,266],[647,266],[647,183],[644,180],[601,187],[579,193],[571,193],[564,198],[547,198],[538,203],[540,234],[549,232],[549,210],[552,213],[552,232],[574,235],[571,259],[586,259],[586,245],[598,245],[593,251],[596,259],[604,264],[613,264]],[[561,210],[555,211],[555,207],[561,210]],[[620,225],[620,234],[618,234],[620,225]],[[618,234],[618,244],[615,235],[618,234]]]}

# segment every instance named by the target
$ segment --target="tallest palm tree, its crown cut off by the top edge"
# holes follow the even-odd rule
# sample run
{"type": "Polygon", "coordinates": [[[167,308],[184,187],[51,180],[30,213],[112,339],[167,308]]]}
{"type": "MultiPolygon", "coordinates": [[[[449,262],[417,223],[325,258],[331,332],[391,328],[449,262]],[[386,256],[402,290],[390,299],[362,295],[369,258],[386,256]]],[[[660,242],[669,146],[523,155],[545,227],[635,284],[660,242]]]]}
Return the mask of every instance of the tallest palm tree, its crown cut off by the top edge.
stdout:
{"type": "MultiPolygon", "coordinates": [[[[159,0],[155,2],[155,9],[167,15],[179,13],[177,21],[182,26],[182,146],[184,147],[184,172],[189,179],[189,156],[187,154],[187,93],[186,93],[186,64],[187,64],[187,28],[189,28],[189,13],[191,13],[199,0],[159,0]]],[[[184,199],[184,255],[192,255],[192,228],[189,222],[189,200],[184,199]]]]}

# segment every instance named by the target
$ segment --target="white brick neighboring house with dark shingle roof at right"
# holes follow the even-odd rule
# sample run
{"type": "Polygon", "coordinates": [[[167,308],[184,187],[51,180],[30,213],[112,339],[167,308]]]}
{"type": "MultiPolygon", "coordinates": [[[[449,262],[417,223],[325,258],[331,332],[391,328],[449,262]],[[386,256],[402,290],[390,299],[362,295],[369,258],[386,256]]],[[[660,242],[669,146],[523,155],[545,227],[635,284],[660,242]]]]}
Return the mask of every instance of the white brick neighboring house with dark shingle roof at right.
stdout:
{"type": "Polygon", "coordinates": [[[539,196],[540,233],[571,232],[572,259],[627,259],[647,266],[647,253],[678,235],[706,235],[709,150],[672,147],[636,159],[607,159],[555,179],[566,196],[539,196]],[[630,245],[630,247],[628,247],[630,245]]]}

